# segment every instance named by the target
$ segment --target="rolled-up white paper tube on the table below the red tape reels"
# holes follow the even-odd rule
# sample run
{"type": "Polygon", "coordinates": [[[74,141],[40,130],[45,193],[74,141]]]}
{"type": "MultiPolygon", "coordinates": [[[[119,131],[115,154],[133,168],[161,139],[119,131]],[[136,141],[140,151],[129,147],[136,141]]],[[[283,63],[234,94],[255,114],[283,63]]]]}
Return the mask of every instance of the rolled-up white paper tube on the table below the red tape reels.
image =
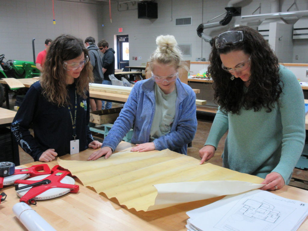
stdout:
{"type": "Polygon", "coordinates": [[[56,231],[43,217],[24,202],[15,204],[13,212],[29,231],[56,231]]]}

